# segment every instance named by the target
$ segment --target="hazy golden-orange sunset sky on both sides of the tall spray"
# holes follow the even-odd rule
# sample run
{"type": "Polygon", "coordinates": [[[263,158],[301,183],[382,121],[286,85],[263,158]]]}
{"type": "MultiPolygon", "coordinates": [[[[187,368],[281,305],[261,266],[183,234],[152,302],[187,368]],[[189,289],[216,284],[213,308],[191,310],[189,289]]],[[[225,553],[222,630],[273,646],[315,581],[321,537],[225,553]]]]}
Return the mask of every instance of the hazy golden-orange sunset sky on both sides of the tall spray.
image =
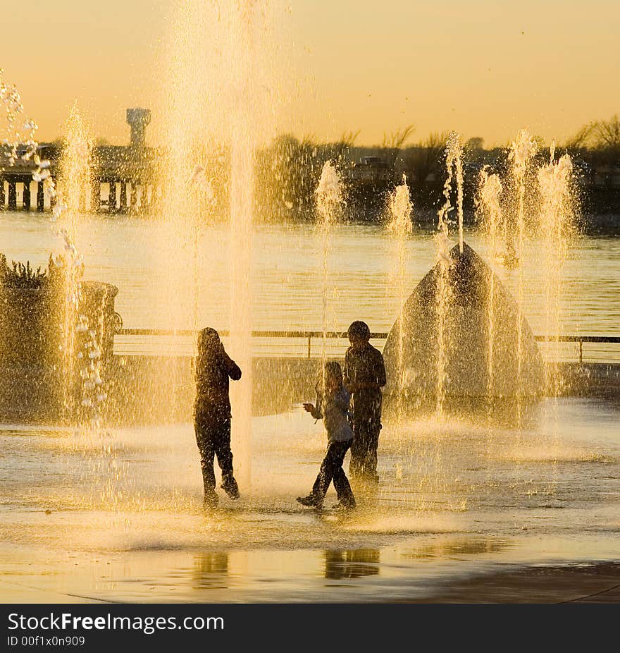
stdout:
{"type": "MultiPolygon", "coordinates": [[[[173,0],[1,4],[0,67],[39,140],[77,98],[95,137],[127,142],[125,108],[158,104],[173,0]]],[[[620,112],[617,0],[287,0],[274,13],[280,131],[359,130],[373,145],[414,123],[413,141],[454,129],[502,145],[521,127],[562,140],[620,112]]]]}

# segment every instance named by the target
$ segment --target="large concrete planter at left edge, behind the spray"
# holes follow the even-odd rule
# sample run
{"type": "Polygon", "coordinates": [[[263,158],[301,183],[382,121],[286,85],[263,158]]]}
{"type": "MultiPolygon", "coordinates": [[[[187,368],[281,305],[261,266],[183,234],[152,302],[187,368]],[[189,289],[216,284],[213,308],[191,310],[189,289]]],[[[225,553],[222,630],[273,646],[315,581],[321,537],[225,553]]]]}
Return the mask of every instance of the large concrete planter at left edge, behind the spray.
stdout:
{"type": "MultiPolygon", "coordinates": [[[[99,281],[83,281],[81,288],[80,313],[87,316],[99,343],[104,375],[118,328],[114,312],[118,288],[99,281]]],[[[75,421],[81,392],[77,351],[85,338],[89,334],[75,329],[75,319],[66,315],[66,301],[55,284],[0,286],[0,418],[75,421]],[[73,355],[66,357],[67,341],[73,341],[73,355]]]]}

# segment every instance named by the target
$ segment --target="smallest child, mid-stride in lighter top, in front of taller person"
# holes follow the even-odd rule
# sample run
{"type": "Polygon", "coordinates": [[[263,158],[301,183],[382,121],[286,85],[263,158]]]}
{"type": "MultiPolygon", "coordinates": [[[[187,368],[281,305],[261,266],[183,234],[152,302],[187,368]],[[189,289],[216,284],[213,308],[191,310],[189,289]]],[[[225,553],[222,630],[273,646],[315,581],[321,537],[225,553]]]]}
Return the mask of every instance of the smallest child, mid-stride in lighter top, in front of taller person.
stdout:
{"type": "Polygon", "coordinates": [[[323,418],[328,447],[312,492],[308,496],[297,497],[297,501],[303,506],[321,508],[328,487],[333,482],[338,496],[335,507],[355,508],[351,485],[345,470],[342,469],[342,462],[353,439],[353,431],[347,419],[349,399],[349,392],[342,384],[340,365],[337,362],[325,363],[323,391],[317,389],[316,406],[304,403],[304,409],[316,420],[323,418]]]}

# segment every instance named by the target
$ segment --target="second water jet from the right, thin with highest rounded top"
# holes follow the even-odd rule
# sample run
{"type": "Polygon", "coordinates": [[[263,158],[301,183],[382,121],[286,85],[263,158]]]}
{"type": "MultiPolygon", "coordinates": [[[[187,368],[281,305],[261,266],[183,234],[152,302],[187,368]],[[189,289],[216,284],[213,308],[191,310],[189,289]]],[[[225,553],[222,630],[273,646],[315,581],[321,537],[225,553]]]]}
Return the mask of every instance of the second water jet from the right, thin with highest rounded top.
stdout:
{"type": "MultiPolygon", "coordinates": [[[[519,307],[519,329],[517,331],[517,386],[519,391],[517,398],[523,395],[523,307],[525,303],[525,282],[523,278],[523,264],[525,257],[526,243],[526,189],[528,183],[528,171],[531,161],[536,152],[536,145],[527,130],[522,129],[512,142],[509,158],[512,161],[512,184],[513,184],[513,206],[512,206],[512,230],[509,229],[511,242],[514,242],[516,232],[516,247],[513,246],[514,257],[519,264],[516,303],[519,307]]],[[[518,413],[520,417],[521,403],[518,401],[518,413]]]]}

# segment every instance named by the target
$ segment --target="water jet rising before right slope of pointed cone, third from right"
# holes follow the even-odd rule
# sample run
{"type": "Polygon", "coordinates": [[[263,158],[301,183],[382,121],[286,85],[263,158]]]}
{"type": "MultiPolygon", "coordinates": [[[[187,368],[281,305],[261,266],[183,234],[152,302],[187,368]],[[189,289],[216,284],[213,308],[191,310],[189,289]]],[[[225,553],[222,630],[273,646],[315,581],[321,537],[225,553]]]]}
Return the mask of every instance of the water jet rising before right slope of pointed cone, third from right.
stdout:
{"type": "MultiPolygon", "coordinates": [[[[503,214],[500,204],[502,182],[496,174],[489,174],[488,169],[481,171],[478,185],[478,209],[481,212],[481,221],[486,233],[489,257],[491,261],[497,260],[500,255],[500,239],[503,228],[503,214]]],[[[495,359],[495,274],[489,275],[487,298],[487,369],[488,369],[488,396],[495,396],[495,366],[501,362],[495,359]]]]}

